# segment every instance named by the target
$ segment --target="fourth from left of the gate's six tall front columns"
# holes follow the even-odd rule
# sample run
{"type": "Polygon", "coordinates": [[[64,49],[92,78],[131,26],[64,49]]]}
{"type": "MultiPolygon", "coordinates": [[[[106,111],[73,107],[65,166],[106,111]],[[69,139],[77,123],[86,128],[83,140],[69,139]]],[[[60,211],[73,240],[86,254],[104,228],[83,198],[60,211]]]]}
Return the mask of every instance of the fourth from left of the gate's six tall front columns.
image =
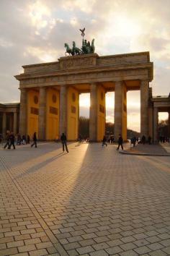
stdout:
{"type": "Polygon", "coordinates": [[[97,141],[97,85],[90,85],[89,140],[97,141]]]}

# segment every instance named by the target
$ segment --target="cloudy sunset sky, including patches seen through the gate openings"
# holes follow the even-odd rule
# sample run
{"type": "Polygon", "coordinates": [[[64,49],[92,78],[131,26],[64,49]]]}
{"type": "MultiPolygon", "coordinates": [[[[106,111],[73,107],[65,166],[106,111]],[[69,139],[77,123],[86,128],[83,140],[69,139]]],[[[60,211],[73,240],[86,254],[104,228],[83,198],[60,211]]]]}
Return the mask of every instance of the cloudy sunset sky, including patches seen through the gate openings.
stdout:
{"type": "MultiPolygon", "coordinates": [[[[19,102],[14,75],[22,65],[57,61],[73,40],[81,47],[83,27],[99,56],[150,51],[153,95],[169,95],[169,0],[0,0],[0,103],[19,102]]],[[[107,121],[114,121],[114,93],[106,98],[107,121]]],[[[80,106],[88,116],[89,95],[80,106]]],[[[140,129],[139,92],[128,92],[128,127],[140,129]]]]}

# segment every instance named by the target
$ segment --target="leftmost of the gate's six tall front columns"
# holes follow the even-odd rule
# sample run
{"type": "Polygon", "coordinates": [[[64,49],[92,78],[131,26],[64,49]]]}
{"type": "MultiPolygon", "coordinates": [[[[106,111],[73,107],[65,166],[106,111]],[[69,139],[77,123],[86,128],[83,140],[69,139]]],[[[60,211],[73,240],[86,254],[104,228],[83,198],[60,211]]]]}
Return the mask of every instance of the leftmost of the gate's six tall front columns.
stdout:
{"type": "Polygon", "coordinates": [[[19,134],[27,134],[27,90],[21,89],[19,108],[19,134]]]}

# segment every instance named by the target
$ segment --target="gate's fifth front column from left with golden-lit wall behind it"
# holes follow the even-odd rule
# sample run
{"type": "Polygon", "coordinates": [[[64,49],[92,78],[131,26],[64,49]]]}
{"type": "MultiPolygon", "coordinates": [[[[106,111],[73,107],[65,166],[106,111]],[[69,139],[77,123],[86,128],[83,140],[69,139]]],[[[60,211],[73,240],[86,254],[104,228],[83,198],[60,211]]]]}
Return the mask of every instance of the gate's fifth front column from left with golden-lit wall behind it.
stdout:
{"type": "Polygon", "coordinates": [[[115,141],[118,140],[119,134],[123,140],[127,140],[127,89],[124,82],[115,82],[115,141]]]}

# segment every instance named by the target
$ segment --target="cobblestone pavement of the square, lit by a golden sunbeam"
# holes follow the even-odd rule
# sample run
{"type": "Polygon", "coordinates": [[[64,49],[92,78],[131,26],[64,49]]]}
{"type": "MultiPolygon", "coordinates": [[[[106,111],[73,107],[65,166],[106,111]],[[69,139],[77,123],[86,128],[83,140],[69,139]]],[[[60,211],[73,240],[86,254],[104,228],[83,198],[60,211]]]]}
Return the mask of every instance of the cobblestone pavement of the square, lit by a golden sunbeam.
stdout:
{"type": "Polygon", "coordinates": [[[0,256],[170,255],[170,158],[0,149],[0,256]]]}

